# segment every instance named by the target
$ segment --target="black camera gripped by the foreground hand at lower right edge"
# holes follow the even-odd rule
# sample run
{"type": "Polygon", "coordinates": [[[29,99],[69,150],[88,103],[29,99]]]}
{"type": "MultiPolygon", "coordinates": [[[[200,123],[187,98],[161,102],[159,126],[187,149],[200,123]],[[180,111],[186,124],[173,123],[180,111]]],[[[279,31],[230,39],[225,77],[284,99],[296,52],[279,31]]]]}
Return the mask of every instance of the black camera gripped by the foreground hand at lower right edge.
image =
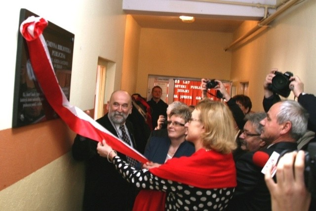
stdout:
{"type": "MultiPolygon", "coordinates": [[[[285,153],[291,152],[284,150],[280,153],[280,159],[285,153]]],[[[305,169],[304,169],[304,182],[307,189],[313,197],[316,197],[316,143],[310,143],[305,151],[305,169]]]]}

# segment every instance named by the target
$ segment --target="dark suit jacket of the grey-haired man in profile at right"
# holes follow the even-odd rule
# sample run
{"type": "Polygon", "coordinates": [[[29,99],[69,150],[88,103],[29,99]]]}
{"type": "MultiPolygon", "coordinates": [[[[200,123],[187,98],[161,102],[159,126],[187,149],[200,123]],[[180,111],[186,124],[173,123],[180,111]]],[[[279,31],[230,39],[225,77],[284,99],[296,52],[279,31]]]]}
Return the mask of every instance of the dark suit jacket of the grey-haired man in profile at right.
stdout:
{"type": "MultiPolygon", "coordinates": [[[[297,143],[279,142],[261,151],[271,156],[274,151],[280,154],[284,150],[297,150],[297,143]]],[[[270,193],[261,173],[262,167],[253,163],[254,153],[247,152],[236,161],[237,187],[228,211],[271,211],[270,193]]]]}

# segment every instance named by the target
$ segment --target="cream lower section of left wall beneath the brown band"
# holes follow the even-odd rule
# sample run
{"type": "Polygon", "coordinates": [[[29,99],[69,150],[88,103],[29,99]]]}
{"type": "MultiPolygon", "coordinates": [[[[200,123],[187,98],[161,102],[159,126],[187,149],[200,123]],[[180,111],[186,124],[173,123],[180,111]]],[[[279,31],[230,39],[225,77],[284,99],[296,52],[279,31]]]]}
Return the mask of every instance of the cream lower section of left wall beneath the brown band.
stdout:
{"type": "Polygon", "coordinates": [[[80,211],[84,166],[71,153],[0,191],[1,211],[80,211]]]}

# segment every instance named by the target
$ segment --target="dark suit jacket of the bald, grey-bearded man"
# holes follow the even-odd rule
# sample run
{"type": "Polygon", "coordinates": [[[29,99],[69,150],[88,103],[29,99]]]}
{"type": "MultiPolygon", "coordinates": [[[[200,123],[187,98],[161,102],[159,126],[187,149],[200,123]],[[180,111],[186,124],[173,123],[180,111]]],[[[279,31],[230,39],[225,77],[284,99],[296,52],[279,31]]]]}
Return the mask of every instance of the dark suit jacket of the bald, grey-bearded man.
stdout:
{"type": "MultiPolygon", "coordinates": [[[[118,137],[116,129],[111,124],[108,114],[97,122],[118,137]]],[[[125,125],[137,149],[138,143],[133,136],[133,127],[126,121],[125,125]]],[[[136,195],[133,185],[125,181],[109,163],[107,158],[97,153],[97,141],[77,135],[72,146],[73,157],[85,161],[85,186],[83,197],[84,211],[128,211],[132,209],[136,195]]],[[[126,156],[118,153],[126,161],[126,156]]]]}

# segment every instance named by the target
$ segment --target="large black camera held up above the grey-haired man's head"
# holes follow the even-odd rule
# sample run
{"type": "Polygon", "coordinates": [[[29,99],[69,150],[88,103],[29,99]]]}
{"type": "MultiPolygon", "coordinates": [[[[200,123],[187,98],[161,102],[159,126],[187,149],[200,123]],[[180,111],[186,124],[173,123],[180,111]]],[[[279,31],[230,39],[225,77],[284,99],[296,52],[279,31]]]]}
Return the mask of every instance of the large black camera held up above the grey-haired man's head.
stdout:
{"type": "Polygon", "coordinates": [[[268,89],[283,97],[288,97],[291,92],[289,84],[291,83],[290,78],[293,76],[293,73],[285,72],[282,74],[276,71],[275,75],[276,76],[272,78],[272,84],[268,85],[268,89]]]}

